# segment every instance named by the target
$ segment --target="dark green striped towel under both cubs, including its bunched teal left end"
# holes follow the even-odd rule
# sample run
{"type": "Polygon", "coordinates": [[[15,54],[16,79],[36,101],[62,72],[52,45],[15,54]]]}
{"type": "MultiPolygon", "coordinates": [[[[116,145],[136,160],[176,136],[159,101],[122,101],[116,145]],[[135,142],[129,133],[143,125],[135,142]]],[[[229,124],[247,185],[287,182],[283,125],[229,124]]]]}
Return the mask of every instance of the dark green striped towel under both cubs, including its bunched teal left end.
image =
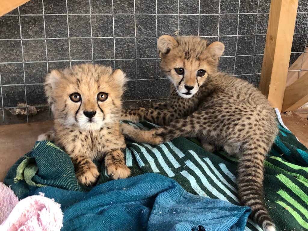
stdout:
{"type": "MultiPolygon", "coordinates": [[[[137,123],[143,129],[150,123],[137,123]]],[[[238,205],[235,184],[237,159],[225,152],[210,153],[195,142],[179,137],[160,145],[127,141],[126,164],[131,176],[155,172],[176,180],[186,191],[238,205]]],[[[110,180],[104,164],[97,184],[110,180]]],[[[308,150],[282,124],[265,161],[265,204],[277,230],[308,229],[308,150]]],[[[88,191],[77,183],[74,167],[63,149],[48,141],[37,142],[12,166],[6,185],[20,198],[32,195],[38,187],[49,185],[73,191],[88,191]]],[[[261,230],[250,219],[246,231],[261,230]]]]}

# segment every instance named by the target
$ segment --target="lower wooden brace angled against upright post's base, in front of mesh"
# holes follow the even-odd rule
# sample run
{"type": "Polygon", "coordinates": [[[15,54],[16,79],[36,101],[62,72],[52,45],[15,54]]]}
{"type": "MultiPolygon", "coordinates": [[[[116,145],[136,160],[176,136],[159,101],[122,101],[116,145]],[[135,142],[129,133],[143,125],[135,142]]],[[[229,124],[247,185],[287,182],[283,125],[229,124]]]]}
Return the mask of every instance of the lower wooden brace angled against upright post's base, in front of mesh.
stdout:
{"type": "Polygon", "coordinates": [[[282,112],[294,111],[308,102],[308,73],[286,88],[282,112]]]}

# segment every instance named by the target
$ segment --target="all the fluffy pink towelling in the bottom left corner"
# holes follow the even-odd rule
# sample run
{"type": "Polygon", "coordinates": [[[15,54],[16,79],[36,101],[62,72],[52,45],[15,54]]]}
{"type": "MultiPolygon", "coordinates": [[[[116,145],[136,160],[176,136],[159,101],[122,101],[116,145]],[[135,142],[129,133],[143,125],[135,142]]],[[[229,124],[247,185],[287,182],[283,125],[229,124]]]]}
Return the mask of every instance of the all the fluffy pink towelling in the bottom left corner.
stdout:
{"type": "Polygon", "coordinates": [[[53,199],[30,196],[18,202],[13,191],[0,183],[0,230],[59,231],[63,224],[60,205],[53,199]],[[15,207],[14,207],[15,206],[15,207]]]}

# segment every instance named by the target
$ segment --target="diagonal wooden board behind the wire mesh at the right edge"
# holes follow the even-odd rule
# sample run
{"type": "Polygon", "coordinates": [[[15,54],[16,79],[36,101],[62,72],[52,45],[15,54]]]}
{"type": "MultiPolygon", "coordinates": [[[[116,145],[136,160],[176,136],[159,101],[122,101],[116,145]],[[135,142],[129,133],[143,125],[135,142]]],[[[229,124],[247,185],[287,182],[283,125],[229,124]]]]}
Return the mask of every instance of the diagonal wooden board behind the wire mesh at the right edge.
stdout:
{"type": "MultiPolygon", "coordinates": [[[[304,52],[308,52],[308,48],[304,52]]],[[[308,53],[302,53],[291,65],[287,75],[286,87],[294,83],[300,76],[304,75],[308,70],[308,53]]]]}

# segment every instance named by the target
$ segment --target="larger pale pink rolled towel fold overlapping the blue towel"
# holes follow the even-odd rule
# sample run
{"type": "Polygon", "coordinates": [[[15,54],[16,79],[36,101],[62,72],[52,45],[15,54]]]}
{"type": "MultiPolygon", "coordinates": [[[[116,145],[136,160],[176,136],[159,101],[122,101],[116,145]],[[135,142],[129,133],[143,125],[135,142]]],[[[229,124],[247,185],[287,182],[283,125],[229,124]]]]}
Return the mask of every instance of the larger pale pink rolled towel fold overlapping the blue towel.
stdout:
{"type": "Polygon", "coordinates": [[[6,220],[0,224],[0,230],[60,231],[62,219],[63,214],[60,205],[41,194],[40,196],[26,197],[19,201],[10,211],[6,220]]]}

